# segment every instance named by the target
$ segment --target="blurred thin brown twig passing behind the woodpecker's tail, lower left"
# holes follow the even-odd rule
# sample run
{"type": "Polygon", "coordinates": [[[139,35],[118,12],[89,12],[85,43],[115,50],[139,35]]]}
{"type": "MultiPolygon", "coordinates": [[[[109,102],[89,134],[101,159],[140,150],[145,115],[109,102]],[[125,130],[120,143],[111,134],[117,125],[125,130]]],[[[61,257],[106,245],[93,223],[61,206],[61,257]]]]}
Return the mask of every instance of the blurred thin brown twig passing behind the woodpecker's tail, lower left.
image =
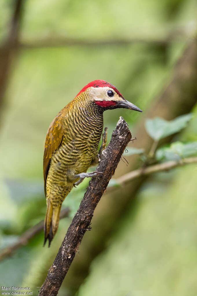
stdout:
{"type": "MultiPolygon", "coordinates": [[[[70,210],[68,207],[62,209],[62,211],[60,212],[60,216],[59,218],[65,218],[68,216],[70,210]]],[[[39,222],[38,224],[36,224],[35,226],[31,227],[30,229],[28,229],[27,231],[25,231],[18,239],[18,241],[14,244],[12,244],[9,247],[6,247],[5,249],[1,250],[0,252],[0,260],[10,256],[12,254],[13,251],[15,251],[16,249],[18,249],[19,247],[25,245],[28,243],[28,241],[35,236],[35,234],[37,234],[38,232],[40,232],[41,230],[43,230],[44,228],[44,220],[39,222]]]]}

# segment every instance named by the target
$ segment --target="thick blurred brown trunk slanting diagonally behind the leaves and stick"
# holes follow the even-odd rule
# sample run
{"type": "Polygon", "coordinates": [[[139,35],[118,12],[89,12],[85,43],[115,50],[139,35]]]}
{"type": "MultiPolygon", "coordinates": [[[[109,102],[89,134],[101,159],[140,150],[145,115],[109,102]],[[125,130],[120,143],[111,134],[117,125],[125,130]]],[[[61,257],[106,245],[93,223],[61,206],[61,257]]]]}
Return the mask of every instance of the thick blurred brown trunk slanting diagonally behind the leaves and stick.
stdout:
{"type": "MultiPolygon", "coordinates": [[[[154,116],[162,117],[166,120],[174,119],[177,116],[191,112],[196,104],[197,98],[197,39],[194,38],[190,44],[185,46],[185,51],[177,61],[174,70],[168,73],[168,82],[163,90],[156,98],[150,102],[148,109],[143,110],[139,117],[139,122],[135,125],[135,148],[142,148],[148,152],[152,145],[152,139],[148,136],[144,123],[146,118],[154,116]]],[[[130,81],[127,81],[130,83],[130,81]]],[[[135,101],[134,101],[135,103],[135,101]]],[[[162,140],[162,143],[169,143],[172,137],[162,140]]],[[[116,170],[116,178],[125,173],[139,168],[138,157],[127,157],[129,165],[120,162],[118,170],[116,170]]],[[[83,244],[80,258],[76,258],[73,262],[65,284],[69,289],[77,291],[80,284],[85,280],[88,274],[91,261],[104,250],[106,240],[112,235],[114,223],[125,215],[128,205],[131,205],[132,198],[136,196],[144,178],[136,178],[133,182],[127,182],[124,190],[121,188],[114,189],[113,194],[108,194],[106,199],[103,199],[99,205],[99,211],[94,215],[94,231],[95,240],[87,238],[83,244]],[[121,194],[121,198],[119,198],[121,194]],[[116,198],[116,202],[114,202],[116,198]],[[110,209],[110,212],[109,212],[110,209]],[[101,214],[102,213],[102,214],[101,214]],[[87,259],[88,258],[88,259],[87,259]],[[73,281],[73,279],[76,279],[73,281]]]]}

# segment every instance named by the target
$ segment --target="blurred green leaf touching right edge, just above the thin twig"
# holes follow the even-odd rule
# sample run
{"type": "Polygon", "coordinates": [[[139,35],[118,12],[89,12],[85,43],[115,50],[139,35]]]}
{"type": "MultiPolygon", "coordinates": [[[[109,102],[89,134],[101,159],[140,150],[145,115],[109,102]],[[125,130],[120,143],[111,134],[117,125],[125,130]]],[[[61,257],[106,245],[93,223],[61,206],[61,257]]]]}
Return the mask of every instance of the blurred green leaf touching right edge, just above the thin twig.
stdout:
{"type": "Polygon", "coordinates": [[[197,141],[190,143],[175,142],[156,151],[157,160],[179,160],[197,153],[197,141]]]}

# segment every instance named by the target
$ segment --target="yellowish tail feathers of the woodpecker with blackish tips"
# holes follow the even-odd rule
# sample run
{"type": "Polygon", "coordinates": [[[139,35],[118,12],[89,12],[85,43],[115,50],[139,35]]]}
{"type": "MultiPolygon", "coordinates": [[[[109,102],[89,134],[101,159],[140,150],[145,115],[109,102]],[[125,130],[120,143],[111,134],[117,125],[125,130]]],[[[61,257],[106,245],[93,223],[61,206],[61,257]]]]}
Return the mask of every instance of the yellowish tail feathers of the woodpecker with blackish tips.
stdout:
{"type": "Polygon", "coordinates": [[[61,205],[53,207],[51,201],[47,200],[47,209],[44,219],[44,245],[48,239],[49,247],[59,225],[60,210],[61,205]]]}

